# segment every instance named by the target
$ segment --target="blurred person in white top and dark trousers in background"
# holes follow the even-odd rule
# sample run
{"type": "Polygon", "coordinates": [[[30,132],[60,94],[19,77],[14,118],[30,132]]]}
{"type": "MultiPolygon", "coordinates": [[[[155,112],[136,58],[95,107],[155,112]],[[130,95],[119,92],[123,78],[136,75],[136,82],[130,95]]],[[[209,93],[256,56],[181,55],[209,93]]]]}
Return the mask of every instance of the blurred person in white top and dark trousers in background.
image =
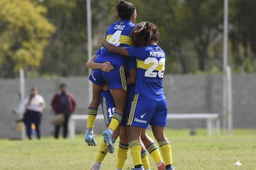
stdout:
{"type": "Polygon", "coordinates": [[[41,130],[40,123],[42,112],[45,108],[44,98],[38,94],[38,89],[36,87],[32,87],[30,91],[30,96],[27,96],[24,100],[24,104],[26,105],[26,112],[24,114],[24,122],[26,124],[26,135],[29,139],[31,138],[31,124],[35,124],[35,130],[37,134],[37,138],[41,138],[41,130]]]}

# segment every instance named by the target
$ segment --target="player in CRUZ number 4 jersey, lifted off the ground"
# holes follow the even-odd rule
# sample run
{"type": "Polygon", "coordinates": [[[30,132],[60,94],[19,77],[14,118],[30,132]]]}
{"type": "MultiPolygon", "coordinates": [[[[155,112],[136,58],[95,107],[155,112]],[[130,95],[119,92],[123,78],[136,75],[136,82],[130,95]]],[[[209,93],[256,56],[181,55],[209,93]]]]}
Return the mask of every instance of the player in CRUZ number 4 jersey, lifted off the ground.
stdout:
{"type": "MultiPolygon", "coordinates": [[[[120,0],[116,5],[118,17],[121,18],[116,23],[113,23],[107,31],[106,40],[112,44],[120,47],[127,47],[131,45],[130,33],[134,28],[134,22],[137,14],[135,6],[132,3],[128,3],[125,0],[120,0]]],[[[113,113],[111,123],[108,130],[103,132],[104,139],[108,152],[113,153],[113,141],[112,134],[116,130],[122,120],[122,115],[125,111],[126,103],[126,80],[125,80],[125,62],[126,58],[118,54],[111,54],[105,48],[102,48],[100,55],[95,59],[95,62],[104,63],[111,62],[114,69],[107,73],[100,69],[93,70],[89,77],[93,82],[93,99],[88,108],[87,119],[87,132],[85,141],[87,143],[96,144],[93,135],[93,124],[98,113],[98,107],[100,104],[100,93],[102,86],[106,83],[110,88],[111,95],[113,96],[116,110],[113,113]]]]}

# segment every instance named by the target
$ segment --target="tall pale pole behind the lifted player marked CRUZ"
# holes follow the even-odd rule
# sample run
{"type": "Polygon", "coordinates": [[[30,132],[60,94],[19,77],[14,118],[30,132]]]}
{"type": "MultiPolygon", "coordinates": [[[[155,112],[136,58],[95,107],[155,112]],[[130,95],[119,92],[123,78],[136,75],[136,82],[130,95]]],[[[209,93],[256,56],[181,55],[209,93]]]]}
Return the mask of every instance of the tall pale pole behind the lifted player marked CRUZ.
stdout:
{"type": "MultiPolygon", "coordinates": [[[[86,0],[87,8],[87,58],[88,60],[92,57],[92,22],[91,22],[91,6],[90,0],[86,0]]],[[[88,77],[90,76],[91,69],[88,69],[88,77]]],[[[88,81],[88,105],[93,98],[92,83],[88,81]]]]}

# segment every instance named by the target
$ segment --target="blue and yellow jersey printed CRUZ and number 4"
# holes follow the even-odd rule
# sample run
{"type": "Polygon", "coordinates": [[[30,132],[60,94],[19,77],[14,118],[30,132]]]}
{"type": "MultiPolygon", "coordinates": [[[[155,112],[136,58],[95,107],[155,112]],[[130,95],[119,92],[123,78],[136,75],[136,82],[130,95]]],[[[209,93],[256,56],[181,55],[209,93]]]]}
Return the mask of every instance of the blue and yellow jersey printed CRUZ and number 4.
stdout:
{"type": "MultiPolygon", "coordinates": [[[[134,29],[134,23],[130,20],[119,20],[108,27],[106,40],[119,47],[128,47],[132,45],[131,31],[134,29]]],[[[119,54],[112,54],[107,49],[101,48],[101,53],[95,59],[95,62],[111,62],[111,64],[125,66],[126,57],[119,54]]]]}

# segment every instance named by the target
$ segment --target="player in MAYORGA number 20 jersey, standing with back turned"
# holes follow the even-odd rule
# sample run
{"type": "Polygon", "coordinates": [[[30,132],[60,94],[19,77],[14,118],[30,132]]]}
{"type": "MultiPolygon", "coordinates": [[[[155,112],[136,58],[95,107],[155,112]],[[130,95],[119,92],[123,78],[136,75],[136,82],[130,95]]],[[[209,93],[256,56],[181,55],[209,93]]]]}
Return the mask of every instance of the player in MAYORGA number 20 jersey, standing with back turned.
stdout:
{"type": "Polygon", "coordinates": [[[174,170],[171,145],[164,134],[167,103],[162,82],[166,56],[157,45],[159,32],[153,23],[142,22],[136,25],[131,36],[134,47],[116,47],[105,40],[102,45],[111,53],[137,59],[135,95],[128,119],[128,139],[134,169],[143,170],[140,133],[150,124],[166,163],[166,170],[174,170]]]}

